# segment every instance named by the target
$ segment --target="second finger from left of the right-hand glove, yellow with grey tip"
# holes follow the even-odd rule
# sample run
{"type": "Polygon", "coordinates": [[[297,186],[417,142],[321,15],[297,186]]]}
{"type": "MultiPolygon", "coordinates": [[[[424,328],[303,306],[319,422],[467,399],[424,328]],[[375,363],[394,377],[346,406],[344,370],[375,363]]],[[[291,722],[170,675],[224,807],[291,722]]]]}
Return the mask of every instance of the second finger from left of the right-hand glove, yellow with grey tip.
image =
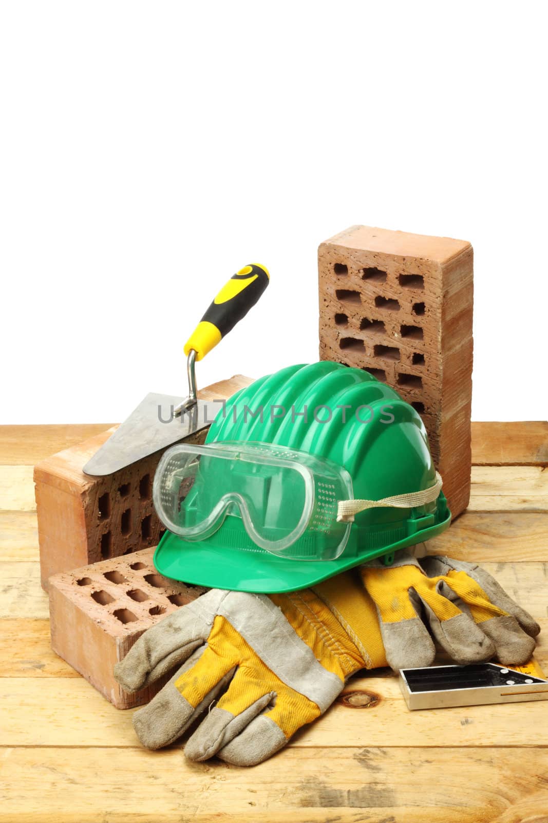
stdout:
{"type": "Polygon", "coordinates": [[[420,598],[432,634],[455,663],[482,663],[494,656],[495,645],[472,617],[458,608],[453,601],[457,596],[443,580],[435,590],[425,587],[420,593],[411,590],[409,594],[420,598]]]}

